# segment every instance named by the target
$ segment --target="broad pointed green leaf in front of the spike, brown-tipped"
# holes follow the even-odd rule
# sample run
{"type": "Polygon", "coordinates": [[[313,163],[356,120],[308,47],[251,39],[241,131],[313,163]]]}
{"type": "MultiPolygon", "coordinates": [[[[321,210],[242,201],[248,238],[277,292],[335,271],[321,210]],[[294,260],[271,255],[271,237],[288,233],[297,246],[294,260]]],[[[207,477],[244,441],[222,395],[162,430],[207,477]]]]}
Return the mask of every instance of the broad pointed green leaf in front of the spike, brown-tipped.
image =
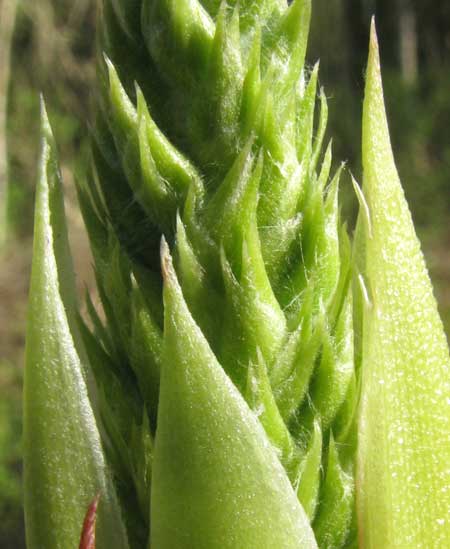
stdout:
{"type": "Polygon", "coordinates": [[[153,461],[158,549],[316,547],[275,450],[183,299],[167,246],[165,357],[153,461]]]}

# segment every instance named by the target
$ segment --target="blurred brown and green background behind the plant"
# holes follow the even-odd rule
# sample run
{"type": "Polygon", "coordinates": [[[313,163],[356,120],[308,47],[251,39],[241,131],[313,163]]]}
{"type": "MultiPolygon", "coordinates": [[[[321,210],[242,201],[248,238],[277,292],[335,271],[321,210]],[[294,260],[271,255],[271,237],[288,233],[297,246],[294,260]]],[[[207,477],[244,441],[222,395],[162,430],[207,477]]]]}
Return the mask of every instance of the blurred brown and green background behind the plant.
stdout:
{"type": "MultiPolygon", "coordinates": [[[[360,134],[371,16],[400,177],[450,330],[450,3],[313,0],[308,54],[320,58],[336,161],[361,179],[360,134]]],[[[39,149],[39,94],[60,149],[80,289],[90,256],[73,189],[86,165],[94,90],[95,0],[0,0],[0,547],[25,546],[21,509],[21,378],[39,149]]],[[[351,219],[355,201],[342,187],[351,219]]]]}

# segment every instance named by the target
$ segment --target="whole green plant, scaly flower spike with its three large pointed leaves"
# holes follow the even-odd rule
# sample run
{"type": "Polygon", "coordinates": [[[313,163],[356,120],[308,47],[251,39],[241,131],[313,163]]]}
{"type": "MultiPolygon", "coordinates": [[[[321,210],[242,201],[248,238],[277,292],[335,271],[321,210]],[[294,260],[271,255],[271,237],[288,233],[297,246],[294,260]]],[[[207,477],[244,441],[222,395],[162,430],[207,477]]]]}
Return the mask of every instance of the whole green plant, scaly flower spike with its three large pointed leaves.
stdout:
{"type": "Polygon", "coordinates": [[[304,66],[309,18],[308,0],[104,0],[92,172],[78,186],[104,312],[87,298],[89,321],[67,247],[45,244],[63,210],[42,190],[59,184],[44,127],[31,548],[75,546],[97,493],[105,549],[449,541],[448,354],[410,259],[374,47],[352,244],[341,169],[331,144],[322,153],[318,67],[304,66]]]}

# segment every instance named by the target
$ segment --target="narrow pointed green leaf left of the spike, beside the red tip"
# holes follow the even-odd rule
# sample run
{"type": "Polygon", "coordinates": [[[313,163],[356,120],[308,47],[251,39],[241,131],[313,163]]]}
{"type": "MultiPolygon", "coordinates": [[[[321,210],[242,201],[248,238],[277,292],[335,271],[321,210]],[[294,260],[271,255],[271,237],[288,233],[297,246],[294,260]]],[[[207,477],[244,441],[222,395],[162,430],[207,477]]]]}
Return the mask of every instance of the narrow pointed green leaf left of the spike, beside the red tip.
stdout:
{"type": "Polygon", "coordinates": [[[24,388],[27,546],[78,546],[96,494],[97,547],[128,547],[85,379],[56,146],[42,107],[42,156],[24,388]]]}

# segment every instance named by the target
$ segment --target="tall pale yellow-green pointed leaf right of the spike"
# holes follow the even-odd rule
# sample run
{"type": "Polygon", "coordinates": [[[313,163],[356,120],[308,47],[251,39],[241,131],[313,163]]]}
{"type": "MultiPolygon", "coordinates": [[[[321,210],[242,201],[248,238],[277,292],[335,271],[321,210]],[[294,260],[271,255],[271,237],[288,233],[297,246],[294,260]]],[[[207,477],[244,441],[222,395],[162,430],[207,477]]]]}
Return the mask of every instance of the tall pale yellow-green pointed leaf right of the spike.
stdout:
{"type": "Polygon", "coordinates": [[[361,544],[449,547],[450,360],[393,160],[374,25],[363,167],[371,228],[363,276],[371,303],[364,311],[359,420],[361,544]]]}

